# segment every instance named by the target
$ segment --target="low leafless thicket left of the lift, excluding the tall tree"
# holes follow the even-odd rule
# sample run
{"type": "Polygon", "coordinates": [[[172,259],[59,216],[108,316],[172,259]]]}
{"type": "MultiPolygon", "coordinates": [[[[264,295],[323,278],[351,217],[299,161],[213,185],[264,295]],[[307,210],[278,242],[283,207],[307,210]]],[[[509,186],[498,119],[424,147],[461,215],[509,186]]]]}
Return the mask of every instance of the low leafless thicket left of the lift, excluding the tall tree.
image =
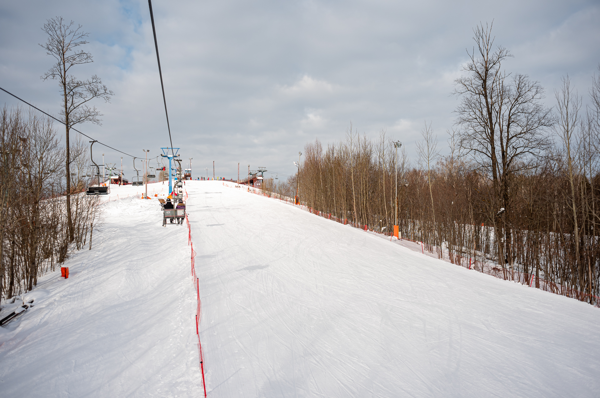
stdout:
{"type": "Polygon", "coordinates": [[[72,230],[61,172],[66,149],[52,119],[20,108],[0,110],[0,298],[31,291],[70,249],[91,248],[99,199],[85,194],[87,145],[71,140],[70,149],[72,230]]]}

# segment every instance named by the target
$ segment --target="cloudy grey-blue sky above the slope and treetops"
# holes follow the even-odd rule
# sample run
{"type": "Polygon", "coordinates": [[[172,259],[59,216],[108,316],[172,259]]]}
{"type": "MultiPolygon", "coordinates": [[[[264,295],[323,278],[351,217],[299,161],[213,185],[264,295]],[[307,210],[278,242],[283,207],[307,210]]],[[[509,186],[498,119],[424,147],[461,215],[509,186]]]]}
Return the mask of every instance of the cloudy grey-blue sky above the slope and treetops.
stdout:
{"type": "MultiPolygon", "coordinates": [[[[161,1],[152,3],[173,146],[193,177],[236,178],[263,166],[295,172],[307,142],[339,142],[350,123],[377,139],[400,140],[413,163],[431,122],[446,152],[454,125],[454,80],[473,28],[493,22],[496,44],[512,55],[509,73],[528,74],[553,91],[569,75],[587,97],[600,62],[598,1],[161,1]]],[[[58,82],[40,76],[52,58],[38,46],[47,19],[62,16],[89,32],[97,74],[115,93],[96,100],[102,125],[78,130],[128,154],[169,146],[148,2],[0,0],[0,87],[58,116],[58,82]]],[[[0,91],[0,104],[19,101],[0,91]]],[[[25,106],[26,107],[26,106],[25,106]]],[[[55,124],[64,136],[64,127],[55,124]]],[[[124,156],[109,148],[106,163],[124,156]]],[[[160,161],[160,160],[159,160],[160,161]]],[[[152,165],[152,163],[151,163],[152,165]]],[[[154,164],[155,165],[155,164],[154,164]]],[[[139,165],[138,165],[139,168],[139,165]]]]}

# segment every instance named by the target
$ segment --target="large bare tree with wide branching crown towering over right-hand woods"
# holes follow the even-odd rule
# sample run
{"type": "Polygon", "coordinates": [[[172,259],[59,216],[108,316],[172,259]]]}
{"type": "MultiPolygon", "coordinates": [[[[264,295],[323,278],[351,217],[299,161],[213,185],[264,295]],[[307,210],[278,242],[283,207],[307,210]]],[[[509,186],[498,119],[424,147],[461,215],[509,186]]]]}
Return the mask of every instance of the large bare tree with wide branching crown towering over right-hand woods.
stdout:
{"type": "Polygon", "coordinates": [[[456,123],[462,127],[457,138],[479,171],[491,178],[498,258],[503,267],[509,262],[512,268],[511,184],[515,173],[533,167],[529,160],[550,147],[547,128],[554,118],[541,103],[544,89],[538,82],[524,74],[511,77],[501,69],[511,55],[502,46],[494,50],[491,26],[478,26],[474,32],[478,50],[469,53],[463,69],[467,76],[455,80],[454,94],[461,98],[455,110],[456,123]]]}

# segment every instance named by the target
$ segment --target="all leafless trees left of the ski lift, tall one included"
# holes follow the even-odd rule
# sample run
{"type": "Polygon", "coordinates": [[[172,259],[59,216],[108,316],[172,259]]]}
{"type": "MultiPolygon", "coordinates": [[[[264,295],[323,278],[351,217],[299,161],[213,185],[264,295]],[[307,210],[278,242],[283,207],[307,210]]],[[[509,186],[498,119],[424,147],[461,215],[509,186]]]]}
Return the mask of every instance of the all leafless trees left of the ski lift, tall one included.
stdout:
{"type": "Polygon", "coordinates": [[[88,183],[96,183],[98,171],[90,172],[88,146],[70,131],[86,122],[101,124],[91,101],[110,101],[113,92],[96,75],[73,75],[77,65],[93,62],[82,49],[89,34],[81,25],[55,17],[42,30],[47,41],[40,46],[53,64],[41,79],[58,82],[57,120],[65,127],[65,145],[52,118],[20,108],[0,110],[0,299],[31,291],[70,250],[86,243],[91,249],[94,226],[101,222],[98,196],[84,193],[88,183]]]}

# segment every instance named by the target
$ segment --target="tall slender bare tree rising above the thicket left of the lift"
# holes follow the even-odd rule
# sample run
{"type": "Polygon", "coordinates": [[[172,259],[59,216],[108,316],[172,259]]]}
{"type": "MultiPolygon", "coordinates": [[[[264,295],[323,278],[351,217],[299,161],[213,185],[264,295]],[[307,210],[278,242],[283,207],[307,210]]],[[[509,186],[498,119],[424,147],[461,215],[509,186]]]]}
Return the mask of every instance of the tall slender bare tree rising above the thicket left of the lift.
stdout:
{"type": "Polygon", "coordinates": [[[41,79],[58,80],[61,88],[63,106],[61,109],[62,122],[65,124],[66,138],[66,160],[65,160],[65,178],[67,181],[67,220],[70,241],[75,238],[73,227],[73,217],[71,215],[71,157],[69,131],[71,127],[83,122],[92,122],[100,124],[101,113],[95,106],[89,106],[89,101],[94,98],[102,98],[104,101],[110,101],[113,92],[102,83],[100,77],[94,75],[91,79],[79,80],[70,74],[70,70],[75,65],[89,64],[93,62],[92,55],[84,50],[78,50],[77,47],[89,43],[86,40],[88,33],[82,31],[82,26],[74,27],[74,22],[65,22],[62,17],[55,17],[47,20],[42,28],[48,35],[46,44],[40,44],[47,55],[52,55],[56,62],[49,71],[41,76],[41,79]]]}

